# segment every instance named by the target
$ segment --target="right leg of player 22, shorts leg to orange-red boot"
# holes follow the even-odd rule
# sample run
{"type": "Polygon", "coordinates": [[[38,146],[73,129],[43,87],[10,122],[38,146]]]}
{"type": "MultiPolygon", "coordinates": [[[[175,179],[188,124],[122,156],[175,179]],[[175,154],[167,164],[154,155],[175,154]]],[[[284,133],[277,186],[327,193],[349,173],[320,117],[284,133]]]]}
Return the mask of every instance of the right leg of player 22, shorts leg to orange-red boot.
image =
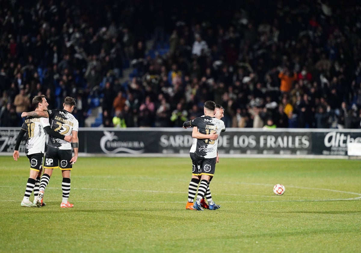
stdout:
{"type": "Polygon", "coordinates": [[[61,183],[62,189],[62,201],[60,207],[73,207],[74,205],[69,203],[68,198],[70,194],[70,171],[72,170],[71,160],[71,150],[59,150],[60,163],[59,168],[63,176],[61,183]]]}

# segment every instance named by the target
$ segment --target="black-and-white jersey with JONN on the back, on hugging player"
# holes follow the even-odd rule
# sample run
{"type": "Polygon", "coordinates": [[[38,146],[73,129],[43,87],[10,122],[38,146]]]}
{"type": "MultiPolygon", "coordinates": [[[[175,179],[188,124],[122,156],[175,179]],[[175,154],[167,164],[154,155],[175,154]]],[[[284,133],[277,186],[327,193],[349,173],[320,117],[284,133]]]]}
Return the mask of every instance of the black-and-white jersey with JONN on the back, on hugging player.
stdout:
{"type": "MultiPolygon", "coordinates": [[[[190,121],[192,127],[197,127],[198,131],[203,134],[217,133],[226,130],[225,123],[215,117],[204,116],[197,117],[194,120],[190,121]]],[[[195,153],[204,158],[214,158],[217,157],[217,140],[209,139],[197,139],[197,146],[195,153]]]]}

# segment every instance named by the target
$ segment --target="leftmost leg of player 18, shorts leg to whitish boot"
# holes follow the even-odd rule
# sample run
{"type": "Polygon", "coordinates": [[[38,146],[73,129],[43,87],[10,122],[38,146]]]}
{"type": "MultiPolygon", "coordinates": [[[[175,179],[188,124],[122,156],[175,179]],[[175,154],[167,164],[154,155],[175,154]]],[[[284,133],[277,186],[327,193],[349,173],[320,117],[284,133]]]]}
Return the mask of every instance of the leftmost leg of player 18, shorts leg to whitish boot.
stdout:
{"type": "Polygon", "coordinates": [[[35,207],[34,203],[32,203],[29,198],[34,190],[35,183],[36,183],[36,176],[38,175],[40,171],[40,166],[42,162],[42,158],[40,158],[39,154],[31,154],[27,155],[30,161],[30,176],[27,179],[26,188],[23,200],[21,201],[21,206],[25,207],[35,207]]]}

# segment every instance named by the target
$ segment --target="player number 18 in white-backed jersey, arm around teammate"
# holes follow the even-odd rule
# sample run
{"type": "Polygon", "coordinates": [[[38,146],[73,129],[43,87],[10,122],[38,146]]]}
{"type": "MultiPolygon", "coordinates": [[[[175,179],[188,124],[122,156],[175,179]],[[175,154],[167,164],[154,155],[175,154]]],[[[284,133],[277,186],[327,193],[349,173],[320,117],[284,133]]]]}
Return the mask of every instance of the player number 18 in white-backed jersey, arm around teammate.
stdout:
{"type": "MultiPolygon", "coordinates": [[[[32,99],[35,111],[44,111],[48,108],[48,102],[45,95],[35,96],[32,99]]],[[[19,146],[24,134],[26,134],[25,154],[30,161],[30,176],[27,180],[26,190],[21,201],[21,206],[34,207],[35,199],[39,192],[39,182],[42,171],[42,163],[44,159],[45,138],[46,133],[49,136],[59,138],[70,144],[72,136],[64,136],[54,130],[51,130],[49,119],[47,117],[27,117],[18,134],[16,145],[14,148],[13,158],[19,158],[19,146]],[[30,202],[31,192],[34,190],[34,203],[30,202]]]]}

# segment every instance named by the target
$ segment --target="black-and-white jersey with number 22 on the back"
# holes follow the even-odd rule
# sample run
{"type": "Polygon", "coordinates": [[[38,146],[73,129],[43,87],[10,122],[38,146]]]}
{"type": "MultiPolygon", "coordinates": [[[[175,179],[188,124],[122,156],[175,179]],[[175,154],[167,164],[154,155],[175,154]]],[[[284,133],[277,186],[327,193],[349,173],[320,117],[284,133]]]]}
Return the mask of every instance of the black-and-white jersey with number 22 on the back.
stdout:
{"type": "MultiPolygon", "coordinates": [[[[79,123],[75,117],[66,110],[49,110],[51,129],[62,135],[71,135],[71,131],[79,130],[79,123]]],[[[48,147],[62,150],[71,150],[71,143],[49,135],[48,147]]]]}

